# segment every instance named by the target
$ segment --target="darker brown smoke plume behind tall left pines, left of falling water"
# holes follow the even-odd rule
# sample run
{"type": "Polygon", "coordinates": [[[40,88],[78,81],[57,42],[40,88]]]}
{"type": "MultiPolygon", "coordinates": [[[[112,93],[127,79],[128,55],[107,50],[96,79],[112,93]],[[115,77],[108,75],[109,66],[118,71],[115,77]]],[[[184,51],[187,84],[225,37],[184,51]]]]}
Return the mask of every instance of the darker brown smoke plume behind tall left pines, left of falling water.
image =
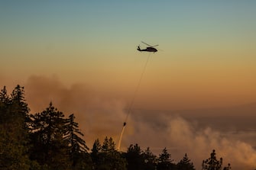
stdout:
{"type": "Polygon", "coordinates": [[[66,117],[74,114],[89,147],[105,136],[118,140],[126,116],[123,101],[102,97],[85,84],[66,87],[54,76],[31,76],[25,91],[31,113],[44,111],[51,101],[66,117]]]}

